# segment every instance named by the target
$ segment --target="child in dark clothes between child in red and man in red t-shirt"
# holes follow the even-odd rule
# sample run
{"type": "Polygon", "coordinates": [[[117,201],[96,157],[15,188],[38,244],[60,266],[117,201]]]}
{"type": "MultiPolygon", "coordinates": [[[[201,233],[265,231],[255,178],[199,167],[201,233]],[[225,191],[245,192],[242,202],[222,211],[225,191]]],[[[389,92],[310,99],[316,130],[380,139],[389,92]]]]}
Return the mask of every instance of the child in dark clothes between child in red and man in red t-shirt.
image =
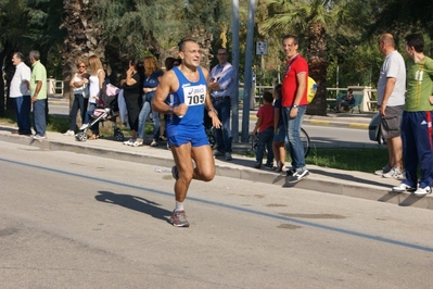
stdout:
{"type": "Polygon", "coordinates": [[[285,163],[285,129],[282,121],[281,85],[273,88],[273,141],[272,151],[277,161],[276,172],[282,172],[285,163]]]}

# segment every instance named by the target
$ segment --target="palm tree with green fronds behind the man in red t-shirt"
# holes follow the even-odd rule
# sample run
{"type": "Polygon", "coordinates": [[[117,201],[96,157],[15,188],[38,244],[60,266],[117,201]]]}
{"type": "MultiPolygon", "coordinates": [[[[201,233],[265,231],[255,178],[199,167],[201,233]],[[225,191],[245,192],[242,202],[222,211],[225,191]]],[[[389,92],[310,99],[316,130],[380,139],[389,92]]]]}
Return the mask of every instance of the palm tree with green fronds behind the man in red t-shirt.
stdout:
{"type": "Polygon", "coordinates": [[[268,18],[260,25],[266,33],[294,34],[306,39],[309,76],[317,85],[317,95],[307,114],[327,114],[327,27],[333,27],[339,12],[338,1],[331,0],[265,0],[268,18]],[[281,32],[284,33],[281,33],[281,32]]]}

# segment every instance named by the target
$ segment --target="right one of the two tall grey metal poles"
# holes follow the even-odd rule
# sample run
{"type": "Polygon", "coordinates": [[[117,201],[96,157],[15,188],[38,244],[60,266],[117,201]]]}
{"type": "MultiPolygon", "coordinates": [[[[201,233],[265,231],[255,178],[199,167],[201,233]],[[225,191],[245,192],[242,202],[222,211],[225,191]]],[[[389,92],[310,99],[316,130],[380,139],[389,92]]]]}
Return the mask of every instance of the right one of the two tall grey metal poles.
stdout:
{"type": "Polygon", "coordinates": [[[253,85],[252,63],[253,63],[253,38],[254,38],[254,14],[255,0],[250,0],[249,21],[246,32],[246,48],[245,48],[245,85],[243,91],[243,110],[242,110],[242,142],[249,141],[250,135],[250,93],[253,85]]]}

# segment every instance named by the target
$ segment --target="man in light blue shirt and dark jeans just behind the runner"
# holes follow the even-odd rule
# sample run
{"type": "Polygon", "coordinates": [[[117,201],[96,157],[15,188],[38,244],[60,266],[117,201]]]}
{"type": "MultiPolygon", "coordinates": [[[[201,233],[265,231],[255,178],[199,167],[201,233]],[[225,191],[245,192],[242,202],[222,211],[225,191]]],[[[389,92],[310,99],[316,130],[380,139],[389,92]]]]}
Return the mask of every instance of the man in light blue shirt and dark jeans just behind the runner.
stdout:
{"type": "Polygon", "coordinates": [[[218,117],[222,123],[222,127],[215,131],[217,150],[214,155],[215,158],[225,158],[226,161],[231,161],[230,110],[231,96],[237,84],[234,83],[235,71],[227,61],[228,58],[227,49],[218,49],[218,65],[211,71],[208,88],[212,90],[214,108],[217,110],[218,117]]]}

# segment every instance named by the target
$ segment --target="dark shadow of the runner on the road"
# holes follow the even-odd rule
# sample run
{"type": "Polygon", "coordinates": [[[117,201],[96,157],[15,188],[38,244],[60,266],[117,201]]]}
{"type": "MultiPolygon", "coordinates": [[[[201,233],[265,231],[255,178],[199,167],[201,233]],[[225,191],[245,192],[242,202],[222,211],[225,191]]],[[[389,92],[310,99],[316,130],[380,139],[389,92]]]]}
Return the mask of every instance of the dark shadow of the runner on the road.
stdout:
{"type": "Polygon", "coordinates": [[[148,214],[154,218],[160,218],[169,222],[167,216],[171,215],[170,211],[160,208],[161,204],[152,202],[141,197],[131,194],[117,194],[111,191],[98,191],[100,194],[94,196],[94,199],[100,202],[117,204],[129,210],[148,214]]]}

